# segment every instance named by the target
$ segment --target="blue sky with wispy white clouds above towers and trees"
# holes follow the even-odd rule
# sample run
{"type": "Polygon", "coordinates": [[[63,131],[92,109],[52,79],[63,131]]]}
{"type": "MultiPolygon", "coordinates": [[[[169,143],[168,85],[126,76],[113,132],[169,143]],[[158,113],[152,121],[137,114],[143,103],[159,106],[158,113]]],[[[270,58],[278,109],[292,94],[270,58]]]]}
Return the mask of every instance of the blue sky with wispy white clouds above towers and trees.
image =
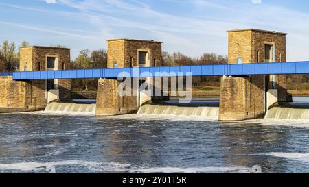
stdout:
{"type": "Polygon", "coordinates": [[[288,61],[309,60],[309,1],[1,0],[0,40],[106,49],[111,38],[159,40],[196,57],[227,54],[227,30],[287,32],[288,61]]]}

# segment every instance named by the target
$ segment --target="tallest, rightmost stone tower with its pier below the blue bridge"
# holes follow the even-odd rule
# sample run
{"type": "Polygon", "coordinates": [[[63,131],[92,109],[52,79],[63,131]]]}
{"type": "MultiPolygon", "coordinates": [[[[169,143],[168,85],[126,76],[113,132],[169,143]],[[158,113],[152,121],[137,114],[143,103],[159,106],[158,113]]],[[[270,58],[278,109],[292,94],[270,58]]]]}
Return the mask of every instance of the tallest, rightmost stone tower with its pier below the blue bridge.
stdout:
{"type": "MultiPolygon", "coordinates": [[[[286,62],[286,33],[239,29],[228,34],[229,64],[286,62]]],[[[219,119],[258,118],[273,103],[286,101],[286,75],[223,77],[219,119]]]]}

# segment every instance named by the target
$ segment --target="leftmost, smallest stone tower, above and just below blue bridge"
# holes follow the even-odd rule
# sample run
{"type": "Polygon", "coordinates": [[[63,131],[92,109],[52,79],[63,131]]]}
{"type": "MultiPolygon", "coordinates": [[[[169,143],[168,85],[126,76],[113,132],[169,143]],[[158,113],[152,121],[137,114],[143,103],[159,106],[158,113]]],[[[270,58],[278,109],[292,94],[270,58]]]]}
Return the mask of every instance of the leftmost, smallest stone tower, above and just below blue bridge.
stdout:
{"type": "MultiPolygon", "coordinates": [[[[70,49],[30,46],[20,48],[19,71],[56,71],[71,69],[70,49]]],[[[60,99],[71,98],[71,80],[47,80],[47,92],[59,90],[60,99]]]]}

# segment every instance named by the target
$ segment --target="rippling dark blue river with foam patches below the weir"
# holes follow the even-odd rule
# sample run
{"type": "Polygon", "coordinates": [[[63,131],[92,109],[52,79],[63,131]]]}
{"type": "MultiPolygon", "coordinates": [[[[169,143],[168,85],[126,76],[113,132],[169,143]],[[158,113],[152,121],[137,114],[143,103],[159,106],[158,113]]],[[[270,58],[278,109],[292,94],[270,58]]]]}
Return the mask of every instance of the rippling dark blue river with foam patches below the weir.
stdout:
{"type": "Polygon", "coordinates": [[[0,172],[309,172],[308,121],[0,114],[0,172]],[[297,153],[297,155],[295,155],[297,153]],[[307,161],[307,162],[306,162],[307,161]]]}

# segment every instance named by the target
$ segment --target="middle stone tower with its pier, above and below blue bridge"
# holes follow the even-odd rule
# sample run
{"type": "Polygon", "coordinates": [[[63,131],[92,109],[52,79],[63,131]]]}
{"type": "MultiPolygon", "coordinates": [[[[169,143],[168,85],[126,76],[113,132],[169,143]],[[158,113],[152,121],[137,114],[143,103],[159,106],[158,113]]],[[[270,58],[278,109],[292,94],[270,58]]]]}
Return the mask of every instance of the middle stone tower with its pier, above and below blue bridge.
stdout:
{"type": "MultiPolygon", "coordinates": [[[[153,40],[108,40],[108,68],[153,67],[162,64],[162,42],[153,40]]],[[[149,78],[141,82],[150,82],[149,78]]],[[[138,84],[141,84],[137,80],[138,84]]],[[[100,79],[97,94],[97,115],[130,114],[139,110],[144,103],[151,101],[149,97],[138,90],[130,90],[132,96],[119,96],[120,81],[100,79]],[[135,95],[133,95],[135,94],[135,95]]],[[[158,98],[159,99],[159,98],[158,98]]]]}

